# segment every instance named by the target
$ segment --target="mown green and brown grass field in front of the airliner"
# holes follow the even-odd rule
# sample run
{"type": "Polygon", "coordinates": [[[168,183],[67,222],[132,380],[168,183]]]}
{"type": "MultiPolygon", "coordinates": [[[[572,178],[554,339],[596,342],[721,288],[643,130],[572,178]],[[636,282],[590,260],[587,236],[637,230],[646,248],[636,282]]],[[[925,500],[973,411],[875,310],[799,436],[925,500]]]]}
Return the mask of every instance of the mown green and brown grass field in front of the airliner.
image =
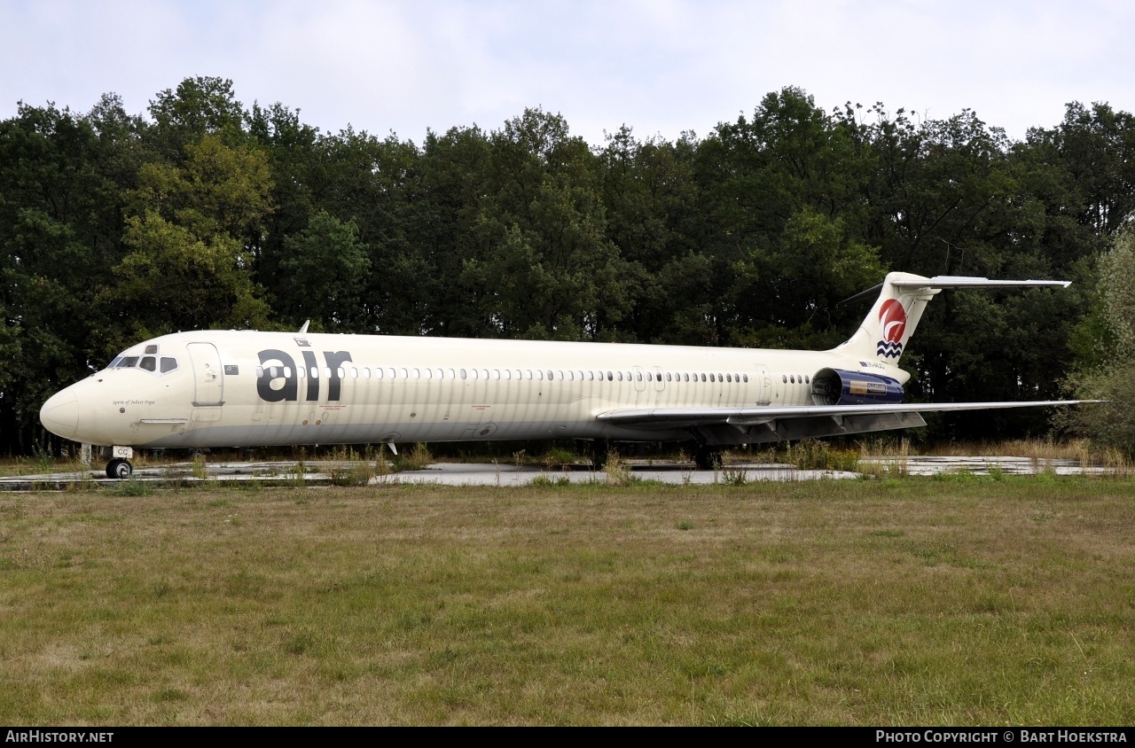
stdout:
{"type": "Polygon", "coordinates": [[[0,723],[1135,723],[1128,479],[123,493],[0,495],[0,723]]]}

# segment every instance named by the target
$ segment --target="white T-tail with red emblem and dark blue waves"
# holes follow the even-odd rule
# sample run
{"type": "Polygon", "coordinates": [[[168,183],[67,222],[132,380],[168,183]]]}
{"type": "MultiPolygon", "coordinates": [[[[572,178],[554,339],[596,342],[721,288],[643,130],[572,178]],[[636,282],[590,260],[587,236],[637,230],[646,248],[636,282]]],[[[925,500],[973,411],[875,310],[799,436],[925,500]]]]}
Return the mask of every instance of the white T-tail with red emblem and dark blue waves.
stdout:
{"type": "Polygon", "coordinates": [[[1035,287],[1060,286],[1069,280],[990,280],[959,276],[926,278],[909,272],[890,272],[883,280],[878,300],[871,308],[863,325],[847,343],[834,350],[867,361],[898,363],[926,303],[943,288],[1035,287]]]}

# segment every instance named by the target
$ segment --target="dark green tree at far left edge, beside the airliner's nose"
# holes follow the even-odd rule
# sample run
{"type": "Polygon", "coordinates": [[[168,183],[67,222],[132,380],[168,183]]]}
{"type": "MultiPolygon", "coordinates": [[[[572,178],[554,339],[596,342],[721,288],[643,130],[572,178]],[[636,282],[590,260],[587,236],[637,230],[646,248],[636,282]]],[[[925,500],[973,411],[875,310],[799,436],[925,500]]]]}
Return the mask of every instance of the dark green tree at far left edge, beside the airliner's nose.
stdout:
{"type": "Polygon", "coordinates": [[[22,104],[0,123],[2,448],[48,438],[40,405],[91,371],[106,325],[93,301],[121,257],[141,128],[112,95],[87,115],[22,104]]]}

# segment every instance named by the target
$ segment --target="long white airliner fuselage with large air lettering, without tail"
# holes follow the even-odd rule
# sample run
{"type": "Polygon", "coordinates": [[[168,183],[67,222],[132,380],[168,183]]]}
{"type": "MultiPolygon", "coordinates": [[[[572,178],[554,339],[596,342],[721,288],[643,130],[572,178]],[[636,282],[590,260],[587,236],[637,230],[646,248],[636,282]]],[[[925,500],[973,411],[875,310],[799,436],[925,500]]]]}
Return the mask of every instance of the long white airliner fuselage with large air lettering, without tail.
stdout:
{"type": "Polygon", "coordinates": [[[132,346],[52,396],[54,434],[219,447],[587,438],[682,440],[597,420],[623,407],[810,405],[825,368],[900,384],[848,352],[204,330],[132,346]]]}

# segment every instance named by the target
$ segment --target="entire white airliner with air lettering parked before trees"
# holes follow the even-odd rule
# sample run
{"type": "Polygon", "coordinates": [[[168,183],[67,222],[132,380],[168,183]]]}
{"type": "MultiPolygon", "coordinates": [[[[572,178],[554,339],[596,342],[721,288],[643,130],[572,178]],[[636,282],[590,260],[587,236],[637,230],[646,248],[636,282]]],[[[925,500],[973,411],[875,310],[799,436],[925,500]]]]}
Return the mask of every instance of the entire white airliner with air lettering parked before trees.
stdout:
{"type": "Polygon", "coordinates": [[[176,333],[124,351],[40,411],[51,432],[107,447],[126,478],[135,447],[486,439],[687,442],[699,467],[726,445],[923,426],[920,413],[1079,401],[902,403],[898,361],[943,288],[1061,286],[892,272],[831,351],[609,343],[176,333]]]}

